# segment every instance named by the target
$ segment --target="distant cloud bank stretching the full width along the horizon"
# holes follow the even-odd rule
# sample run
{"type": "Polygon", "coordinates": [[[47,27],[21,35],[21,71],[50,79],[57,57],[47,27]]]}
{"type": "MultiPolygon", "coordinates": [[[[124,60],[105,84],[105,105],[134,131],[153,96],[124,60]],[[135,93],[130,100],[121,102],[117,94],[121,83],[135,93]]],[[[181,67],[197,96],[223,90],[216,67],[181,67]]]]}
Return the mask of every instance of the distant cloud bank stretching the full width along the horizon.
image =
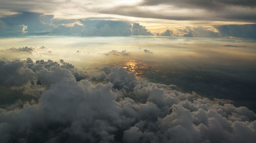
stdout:
{"type": "Polygon", "coordinates": [[[0,18],[0,36],[184,36],[184,37],[241,37],[256,39],[256,24],[184,27],[152,33],[139,23],[113,20],[53,19],[53,15],[23,12],[0,18]]]}

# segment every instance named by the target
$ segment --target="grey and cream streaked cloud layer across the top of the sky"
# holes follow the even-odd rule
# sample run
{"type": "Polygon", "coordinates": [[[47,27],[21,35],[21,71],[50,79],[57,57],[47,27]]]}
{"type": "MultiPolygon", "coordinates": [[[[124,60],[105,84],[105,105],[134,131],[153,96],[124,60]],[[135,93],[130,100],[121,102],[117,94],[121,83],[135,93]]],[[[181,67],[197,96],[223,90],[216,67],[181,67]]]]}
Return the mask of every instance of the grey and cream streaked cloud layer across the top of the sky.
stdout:
{"type": "MultiPolygon", "coordinates": [[[[1,1],[0,9],[3,13],[15,12],[39,12],[56,14],[57,25],[60,21],[76,21],[74,19],[94,17],[102,18],[108,14],[108,17],[120,18],[120,16],[131,17],[172,19],[172,20],[209,20],[209,21],[246,21],[255,22],[255,6],[253,0],[234,0],[234,1],[203,1],[203,0],[144,0],[131,1],[127,4],[125,1],[116,3],[115,1],[41,1],[32,0],[30,2],[1,1]],[[63,19],[60,19],[63,18],[63,19]]],[[[52,15],[43,16],[44,23],[51,23],[52,15]]],[[[138,19],[138,21],[140,21],[138,19]]],[[[157,23],[163,23],[158,20],[157,23]]],[[[63,23],[65,24],[65,23],[63,23]]],[[[28,26],[29,27],[29,26],[28,26]]]]}

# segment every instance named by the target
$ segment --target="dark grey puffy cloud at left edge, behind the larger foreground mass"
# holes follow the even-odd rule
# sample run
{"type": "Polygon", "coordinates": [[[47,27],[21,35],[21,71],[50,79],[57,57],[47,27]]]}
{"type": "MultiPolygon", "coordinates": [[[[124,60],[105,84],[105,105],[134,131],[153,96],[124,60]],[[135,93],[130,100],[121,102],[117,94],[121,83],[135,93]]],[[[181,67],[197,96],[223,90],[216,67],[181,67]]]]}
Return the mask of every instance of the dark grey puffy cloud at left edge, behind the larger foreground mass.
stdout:
{"type": "Polygon", "coordinates": [[[78,71],[72,64],[60,60],[60,64],[51,60],[27,61],[1,60],[0,84],[7,86],[23,86],[29,82],[40,83],[45,87],[61,81],[63,78],[77,81],[87,78],[87,72],[78,71]]]}

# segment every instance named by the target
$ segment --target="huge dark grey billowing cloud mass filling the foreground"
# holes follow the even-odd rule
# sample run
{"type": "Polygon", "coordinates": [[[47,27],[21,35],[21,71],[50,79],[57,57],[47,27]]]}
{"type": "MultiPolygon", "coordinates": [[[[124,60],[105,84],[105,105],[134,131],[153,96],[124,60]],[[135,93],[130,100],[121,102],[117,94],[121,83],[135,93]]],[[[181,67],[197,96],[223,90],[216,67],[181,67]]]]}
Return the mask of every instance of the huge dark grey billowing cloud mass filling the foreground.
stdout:
{"type": "Polygon", "coordinates": [[[1,60],[0,85],[42,94],[37,103],[0,109],[0,142],[256,141],[256,115],[246,107],[181,93],[122,68],[100,70],[92,82],[63,60],[1,60]]]}

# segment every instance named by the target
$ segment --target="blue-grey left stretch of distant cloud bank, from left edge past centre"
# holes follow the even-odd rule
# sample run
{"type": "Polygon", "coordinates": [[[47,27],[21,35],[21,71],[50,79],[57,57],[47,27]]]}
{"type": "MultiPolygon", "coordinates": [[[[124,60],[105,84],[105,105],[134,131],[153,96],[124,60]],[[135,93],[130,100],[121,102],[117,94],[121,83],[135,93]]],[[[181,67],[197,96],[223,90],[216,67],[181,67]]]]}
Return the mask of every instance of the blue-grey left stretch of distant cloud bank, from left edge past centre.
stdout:
{"type": "Polygon", "coordinates": [[[58,19],[53,15],[22,12],[0,18],[0,36],[131,36],[153,35],[139,23],[114,20],[58,19]],[[73,22],[73,23],[72,23],[73,22]]]}

